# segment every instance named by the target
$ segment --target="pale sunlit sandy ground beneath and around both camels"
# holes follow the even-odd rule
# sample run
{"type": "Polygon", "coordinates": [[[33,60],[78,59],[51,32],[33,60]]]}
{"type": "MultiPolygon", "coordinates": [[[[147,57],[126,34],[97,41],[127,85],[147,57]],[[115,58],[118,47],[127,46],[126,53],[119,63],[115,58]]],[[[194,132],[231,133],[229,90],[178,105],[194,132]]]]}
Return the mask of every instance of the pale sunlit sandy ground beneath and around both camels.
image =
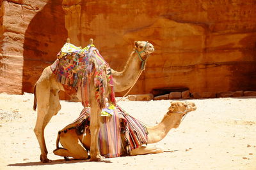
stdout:
{"type": "MultiPolygon", "coordinates": [[[[33,128],[33,95],[0,94],[0,169],[256,169],[256,97],[196,99],[178,129],[172,129],[155,146],[166,152],[135,157],[65,161],[52,153],[58,130],[76,119],[80,103],[61,101],[61,111],[45,128],[53,161],[42,164],[33,128]]],[[[155,125],[170,101],[118,103],[132,116],[155,125]]]]}

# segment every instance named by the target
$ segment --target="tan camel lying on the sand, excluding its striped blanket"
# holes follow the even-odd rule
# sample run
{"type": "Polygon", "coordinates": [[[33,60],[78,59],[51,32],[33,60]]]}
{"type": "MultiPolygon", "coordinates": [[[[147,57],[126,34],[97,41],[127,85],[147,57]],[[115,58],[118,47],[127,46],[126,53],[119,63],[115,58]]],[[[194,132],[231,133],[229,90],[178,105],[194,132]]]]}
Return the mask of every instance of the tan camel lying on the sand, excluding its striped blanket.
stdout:
{"type": "MultiPolygon", "coordinates": [[[[182,117],[186,115],[189,111],[195,111],[195,103],[188,102],[171,102],[171,106],[168,108],[168,112],[164,115],[163,120],[154,127],[147,127],[148,131],[148,143],[157,143],[161,141],[166,134],[172,128],[177,128],[182,121],[182,117]]],[[[143,124],[143,123],[142,123],[143,124]]],[[[57,149],[54,150],[55,155],[60,155],[62,157],[73,157],[74,159],[88,159],[88,152],[86,149],[90,149],[90,127],[86,127],[83,134],[77,134],[76,124],[70,124],[62,129],[58,134],[57,139],[57,149]],[[64,148],[59,148],[58,143],[64,148]]],[[[124,144],[124,138],[122,138],[122,143],[124,144]]],[[[125,145],[125,144],[124,144],[125,145]]],[[[163,152],[162,148],[152,147],[152,146],[140,146],[134,150],[131,150],[129,155],[143,155],[148,153],[161,153],[163,152]]],[[[127,155],[124,148],[122,154],[127,155]]]]}

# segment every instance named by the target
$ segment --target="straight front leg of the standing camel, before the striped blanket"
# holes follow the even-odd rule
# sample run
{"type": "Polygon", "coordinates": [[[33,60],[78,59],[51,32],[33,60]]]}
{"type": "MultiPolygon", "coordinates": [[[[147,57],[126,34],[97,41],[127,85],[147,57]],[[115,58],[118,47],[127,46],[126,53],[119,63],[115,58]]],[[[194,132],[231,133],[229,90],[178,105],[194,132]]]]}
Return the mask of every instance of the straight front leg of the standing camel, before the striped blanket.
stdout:
{"type": "Polygon", "coordinates": [[[91,132],[91,144],[90,144],[90,161],[100,161],[104,157],[100,155],[98,146],[98,135],[100,130],[100,114],[101,110],[97,103],[91,104],[90,114],[90,132],[91,132]]]}

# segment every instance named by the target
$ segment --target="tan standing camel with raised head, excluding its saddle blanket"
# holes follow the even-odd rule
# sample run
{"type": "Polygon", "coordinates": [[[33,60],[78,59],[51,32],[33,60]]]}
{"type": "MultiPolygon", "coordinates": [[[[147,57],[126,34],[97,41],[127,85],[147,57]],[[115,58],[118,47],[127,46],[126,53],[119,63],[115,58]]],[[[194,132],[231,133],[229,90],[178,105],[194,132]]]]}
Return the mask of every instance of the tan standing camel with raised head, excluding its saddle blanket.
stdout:
{"type": "MultiPolygon", "coordinates": [[[[123,71],[114,71],[111,69],[113,75],[113,86],[115,92],[122,92],[132,87],[138,80],[141,72],[145,69],[145,62],[150,53],[154,52],[154,46],[146,41],[134,41],[134,50],[131,52],[129,59],[123,71]]],[[[97,145],[97,134],[100,126],[100,112],[101,109],[95,99],[95,88],[93,78],[90,82],[90,96],[89,103],[91,107],[91,144],[90,155],[91,161],[99,161],[102,157],[99,154],[97,145]]],[[[81,88],[66,87],[56,80],[56,75],[52,73],[51,66],[48,66],[42,72],[42,75],[36,81],[34,87],[34,110],[37,109],[37,119],[35,125],[35,135],[40,145],[42,162],[50,162],[47,159],[47,148],[45,145],[44,129],[51,120],[52,116],[56,115],[61,109],[58,92],[65,91],[71,96],[76,96],[81,101],[81,88]]]]}

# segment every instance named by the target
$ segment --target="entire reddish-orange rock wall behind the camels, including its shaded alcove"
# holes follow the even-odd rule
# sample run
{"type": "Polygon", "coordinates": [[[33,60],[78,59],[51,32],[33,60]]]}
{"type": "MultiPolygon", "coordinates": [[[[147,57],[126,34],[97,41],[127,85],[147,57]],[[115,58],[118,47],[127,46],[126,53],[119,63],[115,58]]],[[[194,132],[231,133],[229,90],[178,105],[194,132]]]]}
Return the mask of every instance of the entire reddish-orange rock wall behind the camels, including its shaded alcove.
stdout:
{"type": "Polygon", "coordinates": [[[118,71],[125,66],[134,40],[150,41],[156,50],[131,94],[177,87],[190,92],[256,89],[253,0],[3,1],[0,22],[0,77],[11,80],[7,85],[0,82],[0,92],[31,92],[67,37],[77,46],[86,46],[93,38],[118,71]],[[14,14],[8,10],[19,19],[13,22],[14,14]],[[6,70],[15,73],[10,78],[6,70]]]}

